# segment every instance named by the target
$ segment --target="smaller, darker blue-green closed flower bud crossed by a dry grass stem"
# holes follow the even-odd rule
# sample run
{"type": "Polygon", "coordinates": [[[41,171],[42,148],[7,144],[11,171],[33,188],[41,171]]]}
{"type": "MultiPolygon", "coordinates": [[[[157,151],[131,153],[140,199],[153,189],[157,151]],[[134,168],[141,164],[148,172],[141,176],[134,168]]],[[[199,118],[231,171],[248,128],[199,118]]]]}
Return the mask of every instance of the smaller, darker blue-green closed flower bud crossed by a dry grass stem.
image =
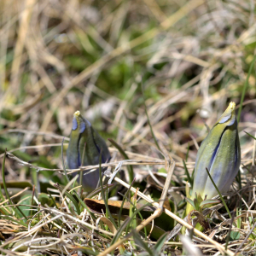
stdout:
{"type": "MultiPolygon", "coordinates": [[[[102,150],[102,163],[110,159],[108,146],[103,138],[84,119],[79,111],[73,114],[73,126],[67,148],[67,166],[77,169],[79,166],[95,166],[99,164],[102,150]],[[85,148],[84,148],[85,147],[85,148]],[[84,155],[83,155],[84,154],[84,155]],[[83,162],[82,162],[83,160],[83,162]]],[[[84,171],[89,172],[89,171],[84,171]]],[[[79,179],[78,179],[79,180],[79,179]]],[[[83,188],[90,192],[96,189],[99,180],[99,170],[83,176],[83,188]]]]}

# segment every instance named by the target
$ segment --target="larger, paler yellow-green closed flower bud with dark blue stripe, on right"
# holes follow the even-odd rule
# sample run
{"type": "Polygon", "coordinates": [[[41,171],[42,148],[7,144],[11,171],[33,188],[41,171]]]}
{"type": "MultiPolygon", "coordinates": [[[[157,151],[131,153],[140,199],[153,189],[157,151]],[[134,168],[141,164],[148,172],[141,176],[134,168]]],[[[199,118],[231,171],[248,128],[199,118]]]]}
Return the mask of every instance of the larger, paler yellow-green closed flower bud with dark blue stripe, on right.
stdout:
{"type": "Polygon", "coordinates": [[[236,103],[230,102],[229,107],[201,143],[195,160],[192,199],[195,198],[195,192],[202,198],[207,195],[207,199],[218,195],[206,168],[221,193],[230,189],[236,177],[241,162],[241,152],[235,108],[236,103]]]}

